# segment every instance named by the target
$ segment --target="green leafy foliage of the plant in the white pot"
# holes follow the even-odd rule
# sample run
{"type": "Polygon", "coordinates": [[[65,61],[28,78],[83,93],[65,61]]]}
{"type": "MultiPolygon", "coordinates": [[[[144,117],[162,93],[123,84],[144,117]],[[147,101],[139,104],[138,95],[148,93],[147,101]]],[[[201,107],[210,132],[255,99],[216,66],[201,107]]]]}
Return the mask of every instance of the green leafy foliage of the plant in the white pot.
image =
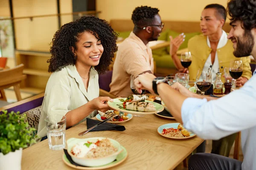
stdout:
{"type": "Polygon", "coordinates": [[[0,115],[0,152],[5,155],[35,143],[34,131],[35,128],[29,128],[26,122],[26,114],[3,111],[0,115]]]}

